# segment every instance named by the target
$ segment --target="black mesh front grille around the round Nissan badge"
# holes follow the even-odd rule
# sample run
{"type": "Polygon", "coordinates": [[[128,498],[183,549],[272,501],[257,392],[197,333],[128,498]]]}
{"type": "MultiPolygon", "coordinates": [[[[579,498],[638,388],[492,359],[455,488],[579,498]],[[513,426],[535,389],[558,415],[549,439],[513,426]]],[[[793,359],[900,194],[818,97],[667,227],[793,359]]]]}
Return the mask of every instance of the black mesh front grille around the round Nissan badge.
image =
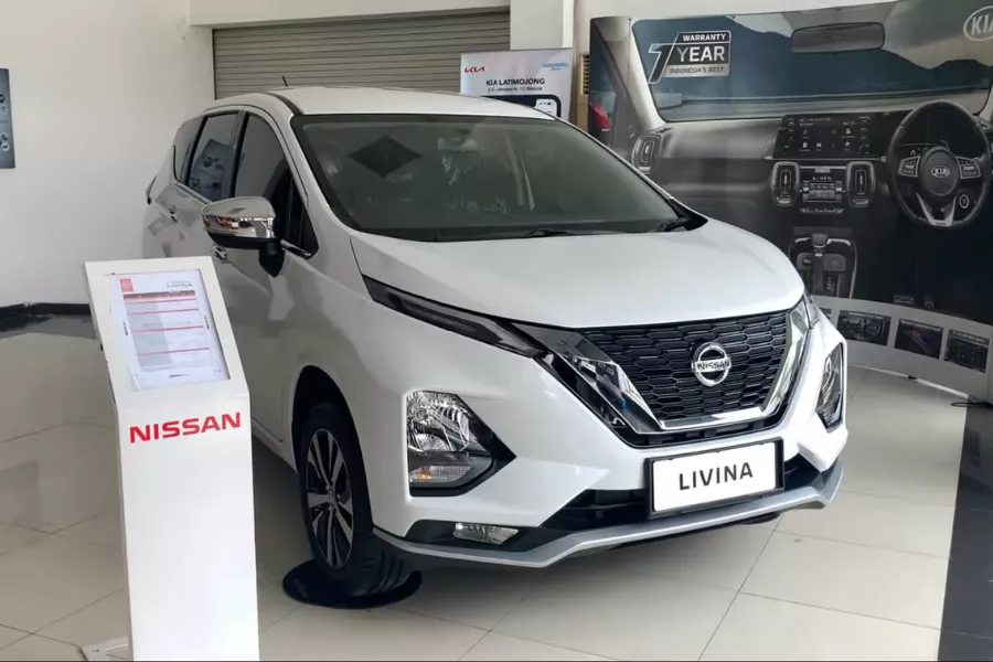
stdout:
{"type": "Polygon", "coordinates": [[[679,420],[761,406],[782,365],[787,314],[581,333],[623,369],[656,418],[679,420]],[[732,360],[717,386],[701,384],[690,366],[705,342],[720,343],[732,360]]]}

